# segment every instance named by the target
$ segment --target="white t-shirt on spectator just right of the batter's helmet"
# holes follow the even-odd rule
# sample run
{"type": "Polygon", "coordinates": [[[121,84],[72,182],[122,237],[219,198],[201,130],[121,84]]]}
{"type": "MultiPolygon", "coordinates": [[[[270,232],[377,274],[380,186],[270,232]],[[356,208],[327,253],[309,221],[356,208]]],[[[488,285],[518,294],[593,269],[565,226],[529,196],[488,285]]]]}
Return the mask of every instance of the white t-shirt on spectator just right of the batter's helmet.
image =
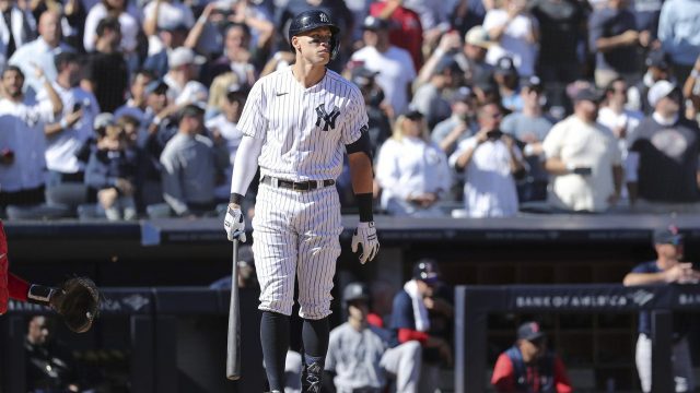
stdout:
{"type": "Polygon", "coordinates": [[[392,46],[382,53],[366,46],[352,53],[351,60],[362,61],[368,70],[378,72],[375,81],[397,116],[408,110],[407,86],[416,79],[416,70],[407,50],[392,46]]]}

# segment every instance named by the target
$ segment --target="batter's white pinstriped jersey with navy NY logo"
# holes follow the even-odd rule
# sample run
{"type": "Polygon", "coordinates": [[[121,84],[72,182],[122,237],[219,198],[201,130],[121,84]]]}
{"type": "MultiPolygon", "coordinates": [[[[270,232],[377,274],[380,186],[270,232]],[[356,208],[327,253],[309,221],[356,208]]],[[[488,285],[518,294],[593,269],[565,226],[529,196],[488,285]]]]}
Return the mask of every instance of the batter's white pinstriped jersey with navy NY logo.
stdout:
{"type": "Polygon", "coordinates": [[[357,141],[368,123],[359,88],[336,72],[304,88],[284,68],[255,83],[238,128],[262,139],[260,175],[293,181],[336,179],[345,145],[357,141]]]}

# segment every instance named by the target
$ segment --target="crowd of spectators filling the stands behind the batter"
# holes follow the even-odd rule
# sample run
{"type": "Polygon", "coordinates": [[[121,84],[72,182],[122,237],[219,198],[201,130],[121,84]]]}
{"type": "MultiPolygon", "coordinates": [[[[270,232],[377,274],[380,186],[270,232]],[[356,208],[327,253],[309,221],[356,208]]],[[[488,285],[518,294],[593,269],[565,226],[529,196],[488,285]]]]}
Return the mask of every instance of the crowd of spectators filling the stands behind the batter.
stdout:
{"type": "Polygon", "coordinates": [[[312,8],[383,212],[700,209],[696,0],[0,0],[4,216],[215,214],[248,88],[312,8]]]}

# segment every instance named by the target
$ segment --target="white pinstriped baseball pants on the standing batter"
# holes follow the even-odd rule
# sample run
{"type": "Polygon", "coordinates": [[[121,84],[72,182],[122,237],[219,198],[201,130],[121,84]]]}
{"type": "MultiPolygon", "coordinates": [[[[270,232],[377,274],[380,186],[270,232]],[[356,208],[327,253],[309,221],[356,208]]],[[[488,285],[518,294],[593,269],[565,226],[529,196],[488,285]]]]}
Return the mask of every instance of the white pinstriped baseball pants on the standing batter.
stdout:
{"type": "Polygon", "coordinates": [[[330,314],[340,218],[332,186],[294,191],[260,183],[253,217],[260,310],[290,315],[298,277],[300,317],[318,320],[330,314]]]}

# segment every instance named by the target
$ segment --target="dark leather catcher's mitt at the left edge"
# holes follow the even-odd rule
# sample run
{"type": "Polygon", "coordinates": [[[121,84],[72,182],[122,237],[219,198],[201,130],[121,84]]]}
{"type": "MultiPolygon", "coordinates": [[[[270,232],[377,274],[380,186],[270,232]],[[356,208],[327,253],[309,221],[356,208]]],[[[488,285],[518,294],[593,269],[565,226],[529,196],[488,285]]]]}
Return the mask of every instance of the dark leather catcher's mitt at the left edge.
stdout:
{"type": "Polygon", "coordinates": [[[88,277],[74,277],[66,281],[51,296],[51,307],[62,318],[68,329],[75,333],[90,330],[100,312],[100,290],[88,277]]]}

